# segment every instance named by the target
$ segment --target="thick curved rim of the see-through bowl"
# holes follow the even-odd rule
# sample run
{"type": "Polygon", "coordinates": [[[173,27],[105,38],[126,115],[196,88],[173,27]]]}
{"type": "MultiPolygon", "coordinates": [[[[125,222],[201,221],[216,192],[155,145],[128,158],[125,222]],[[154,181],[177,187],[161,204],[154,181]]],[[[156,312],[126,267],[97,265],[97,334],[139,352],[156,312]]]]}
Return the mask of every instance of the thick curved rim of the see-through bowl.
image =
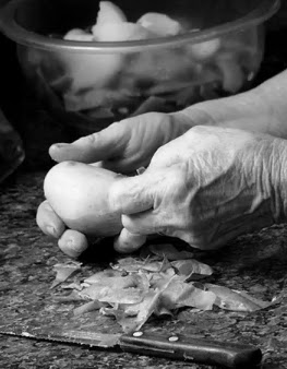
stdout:
{"type": "Polygon", "coordinates": [[[20,45],[49,51],[84,51],[89,53],[132,52],[151,48],[178,47],[186,43],[198,44],[228,32],[256,26],[272,17],[280,7],[280,0],[263,0],[258,8],[237,21],[227,22],[204,31],[191,31],[177,36],[128,41],[74,41],[51,38],[22,27],[15,21],[15,13],[17,7],[26,1],[29,0],[12,0],[0,9],[0,31],[7,37],[20,45]]]}

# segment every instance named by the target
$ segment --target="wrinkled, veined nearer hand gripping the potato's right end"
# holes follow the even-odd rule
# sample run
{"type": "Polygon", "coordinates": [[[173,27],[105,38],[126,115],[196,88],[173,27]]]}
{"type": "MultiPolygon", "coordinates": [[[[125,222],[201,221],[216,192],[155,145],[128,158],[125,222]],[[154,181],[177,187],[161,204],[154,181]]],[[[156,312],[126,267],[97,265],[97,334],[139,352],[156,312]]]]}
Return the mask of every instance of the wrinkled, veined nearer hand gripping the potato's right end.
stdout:
{"type": "MultiPolygon", "coordinates": [[[[124,238],[160,233],[213,249],[278,222],[285,146],[260,133],[192,128],[160,147],[144,174],[115,183],[124,238]]],[[[129,251],[125,243],[118,250],[129,251]]]]}

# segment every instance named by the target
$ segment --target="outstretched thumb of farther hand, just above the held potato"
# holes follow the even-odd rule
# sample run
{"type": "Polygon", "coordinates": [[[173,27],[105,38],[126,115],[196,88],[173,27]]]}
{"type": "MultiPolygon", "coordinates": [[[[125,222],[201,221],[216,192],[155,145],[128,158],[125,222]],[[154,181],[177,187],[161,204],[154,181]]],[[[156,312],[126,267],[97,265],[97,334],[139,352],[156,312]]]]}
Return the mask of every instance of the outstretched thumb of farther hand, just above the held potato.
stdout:
{"type": "Polygon", "coordinates": [[[121,155],[130,140],[127,124],[113,123],[103,131],[81,138],[73,143],[58,143],[49,148],[56,162],[94,163],[121,155]]]}

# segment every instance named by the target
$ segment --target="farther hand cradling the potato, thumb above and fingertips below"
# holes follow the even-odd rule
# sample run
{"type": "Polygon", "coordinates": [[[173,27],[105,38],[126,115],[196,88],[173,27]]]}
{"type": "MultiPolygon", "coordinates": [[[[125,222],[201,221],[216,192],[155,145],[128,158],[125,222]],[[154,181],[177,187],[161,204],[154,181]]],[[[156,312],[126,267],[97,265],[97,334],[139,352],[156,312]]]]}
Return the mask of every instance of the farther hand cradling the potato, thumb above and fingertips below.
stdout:
{"type": "MultiPolygon", "coordinates": [[[[190,127],[190,119],[180,112],[151,112],[113,123],[72,144],[55,144],[49,153],[56,162],[91,163],[130,174],[147,166],[158,147],[187,132],[190,127]]],[[[84,235],[65,230],[62,219],[47,201],[38,207],[37,224],[46,235],[59,239],[59,247],[72,258],[79,257],[87,247],[84,235]]]]}

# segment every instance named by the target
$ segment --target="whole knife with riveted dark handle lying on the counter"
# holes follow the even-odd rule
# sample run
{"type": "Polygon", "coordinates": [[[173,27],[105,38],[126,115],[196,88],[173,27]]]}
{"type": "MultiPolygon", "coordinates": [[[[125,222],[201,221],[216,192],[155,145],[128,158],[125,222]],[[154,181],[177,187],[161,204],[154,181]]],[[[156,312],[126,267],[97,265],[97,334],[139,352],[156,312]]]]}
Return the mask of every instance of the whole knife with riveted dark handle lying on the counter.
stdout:
{"type": "Polygon", "coordinates": [[[250,345],[216,342],[182,334],[164,336],[158,333],[136,331],[130,334],[108,334],[58,326],[25,328],[0,326],[0,334],[60,344],[77,344],[101,349],[120,349],[147,356],[184,360],[224,368],[259,368],[261,349],[250,345]]]}

